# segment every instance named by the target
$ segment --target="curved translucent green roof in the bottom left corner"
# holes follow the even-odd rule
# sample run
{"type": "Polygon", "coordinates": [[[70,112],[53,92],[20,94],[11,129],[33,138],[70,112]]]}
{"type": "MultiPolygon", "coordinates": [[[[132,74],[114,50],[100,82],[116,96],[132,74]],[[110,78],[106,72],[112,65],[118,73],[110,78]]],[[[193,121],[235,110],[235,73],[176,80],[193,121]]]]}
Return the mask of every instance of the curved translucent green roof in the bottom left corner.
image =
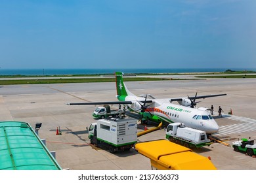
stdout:
{"type": "Polygon", "coordinates": [[[0,170],[60,170],[26,122],[0,122],[0,170]]]}

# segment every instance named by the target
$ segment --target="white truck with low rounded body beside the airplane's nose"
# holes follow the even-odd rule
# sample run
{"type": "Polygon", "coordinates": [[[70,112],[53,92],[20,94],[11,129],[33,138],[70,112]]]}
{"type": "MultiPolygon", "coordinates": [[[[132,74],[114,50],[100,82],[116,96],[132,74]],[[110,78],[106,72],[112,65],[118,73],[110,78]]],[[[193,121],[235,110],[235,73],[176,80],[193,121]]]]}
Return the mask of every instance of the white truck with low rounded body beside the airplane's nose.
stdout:
{"type": "Polygon", "coordinates": [[[207,139],[205,131],[185,127],[181,123],[169,124],[165,129],[165,135],[169,141],[181,144],[187,148],[201,148],[211,144],[211,141],[207,139]]]}

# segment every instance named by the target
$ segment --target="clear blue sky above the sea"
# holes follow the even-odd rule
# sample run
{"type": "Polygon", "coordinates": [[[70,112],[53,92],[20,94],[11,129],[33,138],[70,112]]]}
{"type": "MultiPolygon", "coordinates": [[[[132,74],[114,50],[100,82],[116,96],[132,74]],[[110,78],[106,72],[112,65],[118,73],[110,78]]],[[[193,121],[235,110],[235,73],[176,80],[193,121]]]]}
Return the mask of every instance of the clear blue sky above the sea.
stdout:
{"type": "Polygon", "coordinates": [[[0,67],[256,68],[255,10],[255,0],[1,0],[0,67]]]}

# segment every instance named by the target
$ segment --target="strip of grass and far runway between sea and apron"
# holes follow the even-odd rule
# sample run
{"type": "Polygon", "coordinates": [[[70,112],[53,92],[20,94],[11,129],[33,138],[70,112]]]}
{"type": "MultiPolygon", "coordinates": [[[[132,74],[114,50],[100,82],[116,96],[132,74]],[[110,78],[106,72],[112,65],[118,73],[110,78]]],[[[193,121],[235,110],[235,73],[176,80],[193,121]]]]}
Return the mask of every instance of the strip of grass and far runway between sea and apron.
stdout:
{"type": "MultiPolygon", "coordinates": [[[[206,78],[256,78],[255,71],[232,71],[223,73],[161,73],[124,75],[124,81],[200,80],[206,78]]],[[[0,85],[14,84],[64,84],[83,82],[115,82],[114,75],[65,75],[65,76],[0,76],[0,85]]]]}

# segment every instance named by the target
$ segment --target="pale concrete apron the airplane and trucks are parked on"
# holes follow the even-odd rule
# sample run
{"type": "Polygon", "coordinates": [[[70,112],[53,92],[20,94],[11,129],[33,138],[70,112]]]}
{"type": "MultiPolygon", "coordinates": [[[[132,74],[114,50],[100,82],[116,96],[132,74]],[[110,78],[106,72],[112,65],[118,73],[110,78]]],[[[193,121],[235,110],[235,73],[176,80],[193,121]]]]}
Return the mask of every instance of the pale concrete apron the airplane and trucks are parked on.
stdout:
{"type": "MultiPolygon", "coordinates": [[[[203,99],[198,107],[224,110],[223,118],[213,115],[220,126],[217,137],[227,143],[241,138],[256,139],[256,79],[196,79],[148,82],[125,82],[135,94],[151,94],[156,98],[187,97],[226,93],[226,96],[203,99]],[[232,109],[233,115],[228,115],[232,109]]],[[[47,148],[56,151],[63,169],[151,169],[150,160],[135,150],[110,154],[92,148],[86,127],[92,122],[95,106],[68,106],[69,102],[116,101],[116,85],[108,83],[26,84],[0,86],[0,120],[29,122],[32,127],[41,122],[41,139],[47,148]],[[60,126],[62,135],[56,135],[60,126]]],[[[200,101],[200,100],[198,100],[200,101]]],[[[115,106],[113,106],[115,107],[115,106]]],[[[116,106],[117,107],[117,106],[116,106]]],[[[165,139],[163,129],[143,135],[138,141],[165,139]]],[[[256,159],[234,152],[223,144],[212,144],[196,150],[217,169],[256,169],[256,159]]]]}

